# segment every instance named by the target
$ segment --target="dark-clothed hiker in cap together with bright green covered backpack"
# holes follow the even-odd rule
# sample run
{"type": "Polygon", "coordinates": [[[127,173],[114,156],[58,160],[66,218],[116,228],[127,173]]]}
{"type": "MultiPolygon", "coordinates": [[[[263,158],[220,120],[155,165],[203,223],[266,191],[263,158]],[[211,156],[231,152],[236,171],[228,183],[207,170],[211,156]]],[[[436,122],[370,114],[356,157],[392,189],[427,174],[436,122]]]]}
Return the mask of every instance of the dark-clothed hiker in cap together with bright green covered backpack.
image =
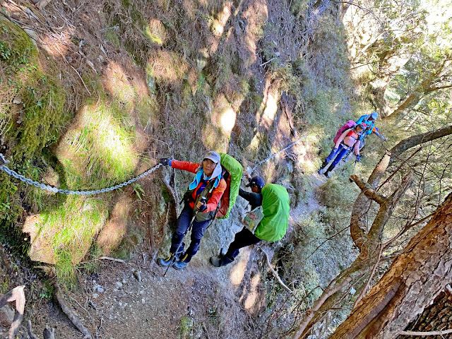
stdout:
{"type": "Polygon", "coordinates": [[[249,201],[251,210],[262,206],[263,219],[254,232],[243,227],[240,232],[235,234],[234,241],[230,244],[224,256],[220,254],[220,257],[210,257],[210,263],[213,266],[220,267],[232,263],[239,254],[239,249],[245,246],[257,244],[261,240],[276,242],[285,235],[290,212],[287,190],[278,184],[264,186],[261,177],[249,179],[249,184],[246,187],[251,187],[252,193],[240,189],[239,196],[249,201]]]}

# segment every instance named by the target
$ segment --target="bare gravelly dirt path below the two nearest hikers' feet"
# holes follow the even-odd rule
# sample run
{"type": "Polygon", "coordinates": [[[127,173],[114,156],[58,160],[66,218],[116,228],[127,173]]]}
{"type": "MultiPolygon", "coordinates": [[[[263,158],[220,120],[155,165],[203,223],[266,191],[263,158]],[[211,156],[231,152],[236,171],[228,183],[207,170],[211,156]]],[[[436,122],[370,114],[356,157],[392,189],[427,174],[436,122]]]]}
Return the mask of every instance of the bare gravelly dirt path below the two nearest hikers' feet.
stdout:
{"type": "MultiPolygon", "coordinates": [[[[242,294],[251,250],[242,252],[233,266],[213,268],[195,257],[185,270],[169,268],[165,278],[165,268],[150,259],[106,261],[81,282],[81,291],[66,294],[66,302],[94,338],[248,338],[241,305],[252,304],[242,294]]],[[[57,338],[81,338],[53,321],[57,338]]],[[[44,323],[33,327],[40,333],[44,323]]]]}

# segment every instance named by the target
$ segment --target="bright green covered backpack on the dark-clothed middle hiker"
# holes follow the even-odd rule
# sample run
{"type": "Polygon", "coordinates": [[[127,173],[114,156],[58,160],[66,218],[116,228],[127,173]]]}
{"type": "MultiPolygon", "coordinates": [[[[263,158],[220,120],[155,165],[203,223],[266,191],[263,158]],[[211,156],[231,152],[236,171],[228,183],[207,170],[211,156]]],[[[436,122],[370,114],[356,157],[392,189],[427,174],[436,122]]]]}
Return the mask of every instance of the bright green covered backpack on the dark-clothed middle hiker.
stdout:
{"type": "Polygon", "coordinates": [[[287,231],[290,213],[290,198],[285,187],[266,184],[262,188],[263,219],[254,235],[266,242],[283,239],[287,231]]]}

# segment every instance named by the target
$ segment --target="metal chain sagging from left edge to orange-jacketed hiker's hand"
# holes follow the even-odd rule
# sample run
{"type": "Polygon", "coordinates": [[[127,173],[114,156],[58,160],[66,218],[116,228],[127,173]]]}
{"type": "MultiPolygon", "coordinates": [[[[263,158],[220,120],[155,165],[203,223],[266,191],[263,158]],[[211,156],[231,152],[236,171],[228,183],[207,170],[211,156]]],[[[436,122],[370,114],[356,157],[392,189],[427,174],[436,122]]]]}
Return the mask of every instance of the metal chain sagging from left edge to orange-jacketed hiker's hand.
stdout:
{"type": "Polygon", "coordinates": [[[118,184],[115,186],[107,187],[106,189],[96,189],[93,191],[71,191],[69,189],[57,189],[57,187],[49,186],[40,184],[39,182],[34,182],[32,179],[25,178],[23,175],[18,174],[17,172],[13,171],[13,169],[9,169],[6,164],[9,162],[5,159],[4,155],[0,153],[0,169],[7,174],[11,175],[11,177],[15,177],[16,179],[19,179],[22,182],[25,182],[26,184],[36,186],[39,189],[47,189],[47,191],[51,191],[54,193],[61,193],[61,194],[75,194],[77,196],[89,196],[92,194],[101,194],[109,191],[113,191],[114,189],[120,189],[121,187],[127,186],[133,182],[136,182],[138,179],[141,179],[145,177],[146,175],[152,173],[157,169],[158,167],[162,166],[162,164],[158,164],[153,168],[148,169],[146,172],[138,175],[138,177],[134,177],[133,179],[130,179],[127,182],[123,182],[122,184],[118,184]]]}

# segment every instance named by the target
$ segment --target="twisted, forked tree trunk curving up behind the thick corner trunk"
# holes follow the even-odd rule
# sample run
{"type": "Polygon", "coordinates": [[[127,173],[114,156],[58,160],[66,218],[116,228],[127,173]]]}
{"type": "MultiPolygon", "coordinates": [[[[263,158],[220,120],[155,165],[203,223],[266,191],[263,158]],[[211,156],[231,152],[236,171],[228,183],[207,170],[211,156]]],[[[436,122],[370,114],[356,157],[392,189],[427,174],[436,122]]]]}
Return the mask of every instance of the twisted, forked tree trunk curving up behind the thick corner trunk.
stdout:
{"type": "MultiPolygon", "coordinates": [[[[326,312],[328,312],[328,309],[335,307],[338,300],[343,299],[347,292],[347,286],[342,285],[342,283],[344,281],[347,281],[349,284],[356,283],[362,279],[376,263],[376,257],[381,246],[381,232],[383,232],[384,226],[391,217],[398,201],[412,182],[412,176],[406,176],[398,189],[389,197],[381,195],[376,190],[376,187],[379,185],[383,175],[386,173],[386,169],[388,169],[388,166],[393,159],[400,157],[402,153],[416,145],[443,136],[448,136],[451,133],[452,126],[448,126],[438,131],[422,133],[406,138],[383,155],[367,183],[356,176],[352,177],[359,188],[362,189],[362,192],[355,201],[352,217],[350,219],[350,232],[352,233],[352,239],[360,250],[360,254],[350,268],[347,268],[347,270],[340,273],[326,290],[323,291],[319,300],[314,304],[314,307],[307,311],[306,316],[302,319],[302,322],[299,323],[297,331],[292,335],[292,339],[307,338],[307,335],[311,333],[311,328],[313,328],[315,323],[321,321],[326,312]],[[367,210],[372,201],[379,203],[380,208],[374,222],[372,222],[370,229],[368,229],[367,210]],[[339,285],[340,288],[338,288],[339,285]]],[[[359,292],[359,290],[357,292],[359,292]]]]}

